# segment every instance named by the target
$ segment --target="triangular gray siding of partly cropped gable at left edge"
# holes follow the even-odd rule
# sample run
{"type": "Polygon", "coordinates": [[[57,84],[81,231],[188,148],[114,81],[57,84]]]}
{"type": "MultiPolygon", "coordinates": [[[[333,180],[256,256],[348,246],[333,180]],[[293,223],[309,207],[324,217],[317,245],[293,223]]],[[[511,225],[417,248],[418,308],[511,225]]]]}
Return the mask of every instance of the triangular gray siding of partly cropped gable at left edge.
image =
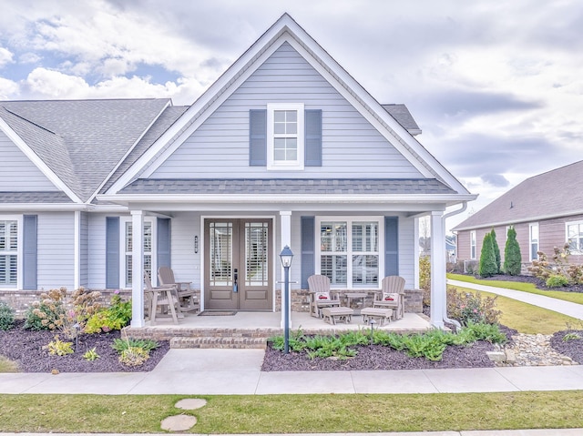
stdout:
{"type": "Polygon", "coordinates": [[[0,132],[0,191],[56,191],[48,178],[0,132]]]}

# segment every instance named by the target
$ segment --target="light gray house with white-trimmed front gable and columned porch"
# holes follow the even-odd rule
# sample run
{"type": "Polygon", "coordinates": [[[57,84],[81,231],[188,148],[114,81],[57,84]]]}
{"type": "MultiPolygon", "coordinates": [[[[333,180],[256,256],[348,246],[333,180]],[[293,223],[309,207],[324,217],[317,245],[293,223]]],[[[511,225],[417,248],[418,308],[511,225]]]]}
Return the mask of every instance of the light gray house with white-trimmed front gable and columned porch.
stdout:
{"type": "Polygon", "coordinates": [[[335,289],[380,289],[395,274],[417,288],[418,218],[431,217],[432,251],[444,252],[445,208],[476,198],[419,133],[290,15],[192,106],[0,102],[0,289],[131,289],[140,328],[143,272],[171,266],[201,309],[274,311],[286,245],[292,297],[314,273],[335,289]]]}

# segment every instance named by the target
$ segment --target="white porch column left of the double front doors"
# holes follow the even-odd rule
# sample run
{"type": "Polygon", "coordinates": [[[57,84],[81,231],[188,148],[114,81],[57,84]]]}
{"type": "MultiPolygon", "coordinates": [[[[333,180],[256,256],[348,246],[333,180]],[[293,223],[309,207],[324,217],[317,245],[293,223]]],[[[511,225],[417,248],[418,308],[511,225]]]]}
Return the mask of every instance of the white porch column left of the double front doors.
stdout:
{"type": "Polygon", "coordinates": [[[144,327],[144,213],[131,211],[131,327],[144,327]]]}

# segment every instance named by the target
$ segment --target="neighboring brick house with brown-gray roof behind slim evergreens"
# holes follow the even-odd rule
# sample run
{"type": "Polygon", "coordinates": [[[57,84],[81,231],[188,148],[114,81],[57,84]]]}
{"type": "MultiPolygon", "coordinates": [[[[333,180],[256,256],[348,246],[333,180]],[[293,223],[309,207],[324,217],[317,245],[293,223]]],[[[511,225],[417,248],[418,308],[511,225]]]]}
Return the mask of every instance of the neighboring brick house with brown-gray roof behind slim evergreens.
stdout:
{"type": "MultiPolygon", "coordinates": [[[[517,231],[523,265],[537,251],[552,255],[570,246],[573,263],[583,262],[583,161],[527,178],[457,225],[457,257],[479,260],[482,242],[492,228],[504,260],[509,227],[517,231]]],[[[526,269],[524,269],[526,271],[526,269]]]]}

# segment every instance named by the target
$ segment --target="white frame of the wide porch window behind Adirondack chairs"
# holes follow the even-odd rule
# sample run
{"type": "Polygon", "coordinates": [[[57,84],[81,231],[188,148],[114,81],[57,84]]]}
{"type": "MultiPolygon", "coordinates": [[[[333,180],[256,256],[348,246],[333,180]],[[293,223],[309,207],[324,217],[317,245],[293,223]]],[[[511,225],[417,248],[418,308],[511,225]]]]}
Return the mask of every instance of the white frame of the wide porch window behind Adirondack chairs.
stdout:
{"type": "Polygon", "coordinates": [[[384,278],[384,217],[378,216],[328,216],[328,217],[316,217],[315,228],[316,228],[316,243],[315,243],[315,260],[316,274],[322,273],[322,255],[330,254],[330,251],[322,251],[322,239],[320,229],[322,228],[322,222],[346,222],[346,286],[331,285],[332,289],[373,289],[373,285],[353,285],[353,223],[354,222],[376,222],[378,224],[379,234],[378,234],[378,256],[379,256],[379,272],[378,272],[378,283],[376,289],[381,289],[381,281],[384,278]]]}

